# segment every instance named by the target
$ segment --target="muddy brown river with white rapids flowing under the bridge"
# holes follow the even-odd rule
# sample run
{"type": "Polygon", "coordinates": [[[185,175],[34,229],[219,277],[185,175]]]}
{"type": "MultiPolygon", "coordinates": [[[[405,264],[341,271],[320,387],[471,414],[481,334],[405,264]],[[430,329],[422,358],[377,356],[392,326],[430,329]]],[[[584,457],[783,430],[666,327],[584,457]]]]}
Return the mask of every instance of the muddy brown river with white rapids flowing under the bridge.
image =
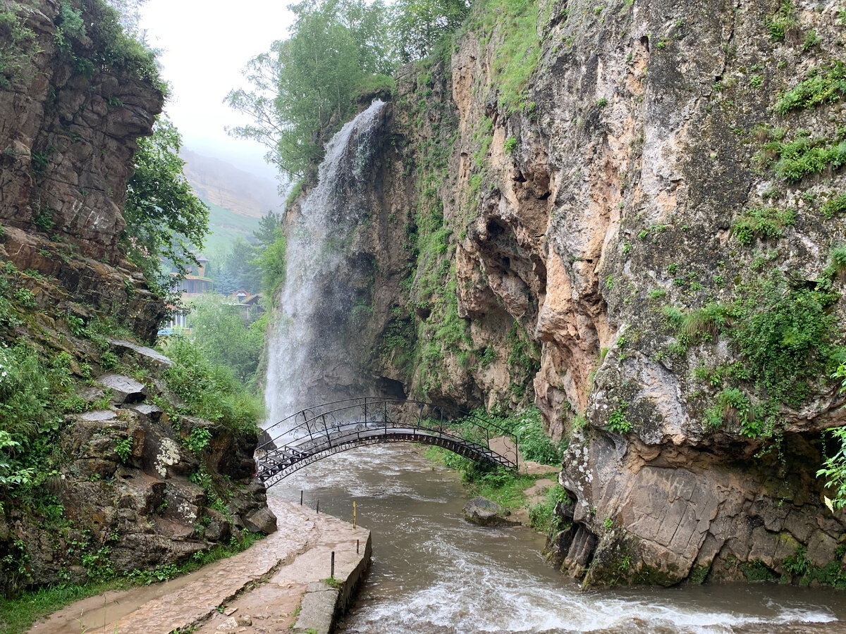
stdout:
{"type": "Polygon", "coordinates": [[[317,462],[272,493],[373,531],[373,568],[346,634],[477,632],[846,632],[846,594],[826,588],[711,585],[581,592],[547,566],[543,538],[461,517],[456,474],[404,445],[317,462]]]}

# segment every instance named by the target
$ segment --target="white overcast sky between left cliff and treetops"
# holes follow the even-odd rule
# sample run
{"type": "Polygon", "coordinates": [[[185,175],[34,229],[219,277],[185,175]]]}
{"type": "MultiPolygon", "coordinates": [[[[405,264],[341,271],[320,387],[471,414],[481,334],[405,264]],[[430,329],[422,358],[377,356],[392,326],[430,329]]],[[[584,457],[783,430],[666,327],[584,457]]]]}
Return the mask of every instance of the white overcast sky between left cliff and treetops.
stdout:
{"type": "Polygon", "coordinates": [[[250,123],[222,103],[229,90],[247,87],[242,69],[288,37],[288,2],[274,0],[149,0],[141,29],[162,49],[162,75],[171,86],[165,105],[184,146],[241,169],[275,176],[262,145],[233,139],[223,128],[250,123]]]}

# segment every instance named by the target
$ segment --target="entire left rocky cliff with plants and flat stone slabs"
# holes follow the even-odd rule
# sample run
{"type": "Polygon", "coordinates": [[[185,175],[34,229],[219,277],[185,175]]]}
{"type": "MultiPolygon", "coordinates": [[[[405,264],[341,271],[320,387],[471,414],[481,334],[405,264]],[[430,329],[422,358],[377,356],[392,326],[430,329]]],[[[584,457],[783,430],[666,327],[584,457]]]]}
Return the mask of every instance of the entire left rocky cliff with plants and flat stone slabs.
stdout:
{"type": "Polygon", "coordinates": [[[166,308],[120,243],[151,53],[99,0],[5,3],[0,40],[0,592],[272,530],[255,435],[192,418],[172,363],[116,339],[166,308]]]}

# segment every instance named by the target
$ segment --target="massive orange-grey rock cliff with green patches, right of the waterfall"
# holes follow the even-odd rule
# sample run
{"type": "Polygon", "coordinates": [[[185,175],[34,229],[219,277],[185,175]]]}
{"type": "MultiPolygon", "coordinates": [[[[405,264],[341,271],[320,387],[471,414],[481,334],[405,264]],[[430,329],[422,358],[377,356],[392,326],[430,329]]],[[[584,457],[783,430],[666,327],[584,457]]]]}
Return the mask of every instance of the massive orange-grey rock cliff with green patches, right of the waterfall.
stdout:
{"type": "Polygon", "coordinates": [[[535,402],[569,441],[552,558],[589,585],[843,579],[816,470],[843,424],[844,19],[488,3],[398,78],[349,251],[360,383],[535,402]]]}

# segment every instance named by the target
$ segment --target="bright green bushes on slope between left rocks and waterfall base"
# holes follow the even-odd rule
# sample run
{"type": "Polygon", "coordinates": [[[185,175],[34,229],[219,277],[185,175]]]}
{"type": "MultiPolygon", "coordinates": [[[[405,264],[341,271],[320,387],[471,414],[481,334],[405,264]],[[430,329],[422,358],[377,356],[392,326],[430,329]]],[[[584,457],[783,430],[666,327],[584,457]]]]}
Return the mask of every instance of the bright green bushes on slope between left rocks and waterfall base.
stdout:
{"type": "Polygon", "coordinates": [[[200,347],[183,336],[169,337],[162,351],[174,362],[165,380],[187,403],[185,414],[217,421],[235,432],[255,433],[263,404],[228,368],[210,363],[200,347]]]}

